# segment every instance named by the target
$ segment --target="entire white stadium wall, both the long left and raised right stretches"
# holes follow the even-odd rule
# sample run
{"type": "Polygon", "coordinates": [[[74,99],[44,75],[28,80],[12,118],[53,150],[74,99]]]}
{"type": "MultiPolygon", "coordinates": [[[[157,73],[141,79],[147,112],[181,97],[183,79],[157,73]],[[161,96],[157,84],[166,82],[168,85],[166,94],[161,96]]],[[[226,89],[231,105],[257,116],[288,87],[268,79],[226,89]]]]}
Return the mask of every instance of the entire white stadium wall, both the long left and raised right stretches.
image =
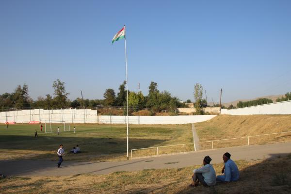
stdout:
{"type": "MultiPolygon", "coordinates": [[[[240,109],[222,109],[221,114],[251,115],[251,114],[291,114],[291,100],[275,102],[240,109]]],[[[216,115],[189,116],[129,116],[131,124],[187,124],[210,120],[216,115]]],[[[32,109],[23,111],[0,112],[0,122],[29,123],[39,122],[67,122],[67,123],[105,123],[125,124],[126,116],[97,115],[91,109],[32,109]]]]}

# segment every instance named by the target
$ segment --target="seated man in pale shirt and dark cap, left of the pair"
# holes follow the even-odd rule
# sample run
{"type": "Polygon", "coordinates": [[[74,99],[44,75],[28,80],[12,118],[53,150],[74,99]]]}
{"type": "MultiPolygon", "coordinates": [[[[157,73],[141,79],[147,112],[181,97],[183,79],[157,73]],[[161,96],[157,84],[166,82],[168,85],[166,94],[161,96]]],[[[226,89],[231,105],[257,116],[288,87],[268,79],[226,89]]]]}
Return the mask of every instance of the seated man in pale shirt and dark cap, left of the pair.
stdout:
{"type": "Polygon", "coordinates": [[[214,186],[216,184],[215,170],[210,164],[212,159],[209,156],[205,156],[203,160],[203,166],[193,170],[193,182],[189,186],[196,187],[199,182],[203,186],[214,186]]]}

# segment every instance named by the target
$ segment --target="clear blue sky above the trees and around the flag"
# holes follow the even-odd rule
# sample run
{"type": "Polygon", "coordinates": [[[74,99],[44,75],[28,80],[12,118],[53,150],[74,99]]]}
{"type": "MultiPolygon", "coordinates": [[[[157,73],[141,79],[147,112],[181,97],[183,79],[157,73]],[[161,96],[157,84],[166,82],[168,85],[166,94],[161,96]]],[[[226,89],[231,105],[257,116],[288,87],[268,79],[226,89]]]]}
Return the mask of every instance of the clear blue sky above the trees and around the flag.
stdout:
{"type": "Polygon", "coordinates": [[[27,83],[30,96],[53,94],[65,81],[69,98],[103,98],[125,80],[147,95],[158,82],[182,100],[201,83],[209,100],[291,91],[290,0],[0,1],[0,94],[27,83]],[[123,3],[121,3],[123,2],[123,3]]]}

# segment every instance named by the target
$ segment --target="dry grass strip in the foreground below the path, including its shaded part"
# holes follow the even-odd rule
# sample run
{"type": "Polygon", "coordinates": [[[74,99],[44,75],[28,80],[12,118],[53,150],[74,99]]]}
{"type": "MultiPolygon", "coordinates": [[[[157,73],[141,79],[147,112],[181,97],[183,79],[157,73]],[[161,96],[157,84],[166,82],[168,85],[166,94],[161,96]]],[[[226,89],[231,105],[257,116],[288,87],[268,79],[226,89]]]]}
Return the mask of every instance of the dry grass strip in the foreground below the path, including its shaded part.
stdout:
{"type": "MultiPolygon", "coordinates": [[[[12,177],[0,180],[2,194],[290,194],[291,155],[273,160],[236,161],[241,179],[238,182],[206,188],[188,187],[192,170],[198,166],[178,169],[151,169],[115,172],[109,175],[75,175],[68,177],[12,177]]],[[[214,164],[216,175],[223,163],[214,164]]]]}

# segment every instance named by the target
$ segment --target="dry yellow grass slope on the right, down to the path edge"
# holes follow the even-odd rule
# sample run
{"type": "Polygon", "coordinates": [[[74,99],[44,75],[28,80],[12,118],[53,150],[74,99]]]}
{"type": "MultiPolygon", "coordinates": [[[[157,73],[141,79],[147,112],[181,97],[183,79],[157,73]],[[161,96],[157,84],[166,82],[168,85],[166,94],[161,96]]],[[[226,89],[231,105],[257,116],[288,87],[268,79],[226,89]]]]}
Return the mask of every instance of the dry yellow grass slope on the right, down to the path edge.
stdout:
{"type": "MultiPolygon", "coordinates": [[[[268,133],[291,131],[291,115],[219,115],[213,119],[196,123],[200,142],[245,137],[268,133]]],[[[291,133],[250,137],[250,144],[265,144],[291,141],[291,133]]],[[[247,145],[247,139],[214,142],[214,148],[247,145]]],[[[210,149],[211,143],[201,143],[210,149]]]]}

